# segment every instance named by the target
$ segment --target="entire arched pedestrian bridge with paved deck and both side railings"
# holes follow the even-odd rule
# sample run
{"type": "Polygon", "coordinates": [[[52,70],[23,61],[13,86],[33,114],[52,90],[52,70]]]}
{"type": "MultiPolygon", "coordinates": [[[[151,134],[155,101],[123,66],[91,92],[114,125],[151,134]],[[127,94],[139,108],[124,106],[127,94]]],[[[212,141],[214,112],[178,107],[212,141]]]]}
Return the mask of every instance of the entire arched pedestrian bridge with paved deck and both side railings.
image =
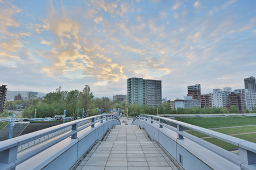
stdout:
{"type": "Polygon", "coordinates": [[[121,125],[103,114],[0,142],[0,169],[256,169],[256,144],[164,117],[121,125]],[[183,128],[232,143],[240,155],[183,128]]]}

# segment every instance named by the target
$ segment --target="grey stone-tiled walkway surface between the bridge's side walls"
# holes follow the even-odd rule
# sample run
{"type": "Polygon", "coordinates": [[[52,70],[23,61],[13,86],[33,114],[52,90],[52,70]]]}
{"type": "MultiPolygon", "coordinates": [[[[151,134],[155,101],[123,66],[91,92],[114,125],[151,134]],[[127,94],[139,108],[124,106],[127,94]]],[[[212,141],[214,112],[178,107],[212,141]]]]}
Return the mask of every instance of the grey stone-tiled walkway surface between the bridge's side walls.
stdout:
{"type": "Polygon", "coordinates": [[[76,167],[80,169],[178,169],[137,125],[119,125],[76,167]]]}

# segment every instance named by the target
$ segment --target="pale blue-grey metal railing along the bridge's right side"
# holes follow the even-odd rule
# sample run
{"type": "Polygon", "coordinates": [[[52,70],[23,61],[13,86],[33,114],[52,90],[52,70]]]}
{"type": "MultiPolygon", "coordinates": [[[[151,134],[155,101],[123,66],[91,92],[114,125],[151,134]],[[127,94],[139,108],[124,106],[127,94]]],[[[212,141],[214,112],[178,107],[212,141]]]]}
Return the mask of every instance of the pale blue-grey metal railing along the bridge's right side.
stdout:
{"type": "Polygon", "coordinates": [[[217,155],[222,156],[222,158],[225,158],[226,160],[229,160],[230,162],[236,165],[241,166],[241,164],[244,163],[246,167],[250,167],[248,165],[253,165],[254,168],[256,167],[256,143],[245,141],[243,139],[232,137],[230,135],[218,133],[217,131],[201,128],[199,126],[187,124],[185,122],[171,120],[169,118],[164,118],[159,116],[153,116],[150,114],[139,115],[134,118],[133,122],[137,120],[144,121],[152,125],[155,124],[158,126],[159,129],[168,128],[172,131],[175,131],[177,133],[177,139],[184,139],[184,137],[188,138],[191,141],[207,148],[208,150],[214,152],[217,155]],[[174,126],[165,124],[164,121],[170,122],[174,126]],[[220,139],[221,141],[231,143],[232,145],[236,145],[240,150],[240,155],[237,156],[232,152],[226,151],[223,148],[217,147],[207,141],[204,141],[203,139],[197,138],[194,135],[186,133],[185,131],[183,131],[184,127],[198,131],[203,134],[207,134],[211,137],[220,139]]]}

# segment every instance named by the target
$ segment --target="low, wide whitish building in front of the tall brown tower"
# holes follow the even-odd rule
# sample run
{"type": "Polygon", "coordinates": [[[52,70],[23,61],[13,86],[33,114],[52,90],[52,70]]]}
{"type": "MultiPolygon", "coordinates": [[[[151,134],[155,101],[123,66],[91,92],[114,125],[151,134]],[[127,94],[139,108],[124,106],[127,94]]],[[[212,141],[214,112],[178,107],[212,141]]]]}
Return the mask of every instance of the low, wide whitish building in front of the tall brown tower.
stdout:
{"type": "Polygon", "coordinates": [[[190,109],[195,107],[201,107],[201,101],[192,99],[192,96],[184,96],[184,99],[175,100],[175,108],[190,109]]]}

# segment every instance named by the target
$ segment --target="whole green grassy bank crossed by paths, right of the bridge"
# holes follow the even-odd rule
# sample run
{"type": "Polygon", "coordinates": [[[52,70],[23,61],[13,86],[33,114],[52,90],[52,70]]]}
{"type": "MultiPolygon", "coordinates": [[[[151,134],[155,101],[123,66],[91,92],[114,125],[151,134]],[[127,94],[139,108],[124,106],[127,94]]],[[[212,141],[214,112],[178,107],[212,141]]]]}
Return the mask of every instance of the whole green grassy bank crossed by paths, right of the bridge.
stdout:
{"type": "MultiPolygon", "coordinates": [[[[193,118],[180,118],[176,117],[176,120],[183,121],[188,124],[200,126],[203,128],[224,128],[232,126],[243,126],[243,125],[256,125],[256,117],[193,117],[193,118]]],[[[239,134],[256,131],[256,126],[240,127],[240,128],[225,128],[225,129],[214,129],[224,134],[239,134]]],[[[188,133],[195,135],[196,137],[208,137],[203,133],[197,131],[188,131],[188,133]]],[[[256,133],[253,134],[242,134],[234,135],[236,138],[244,139],[246,141],[256,143],[256,133]]],[[[221,141],[216,138],[206,138],[205,141],[213,143],[214,145],[225,148],[226,150],[237,148],[237,146],[230,143],[221,141]]]]}

